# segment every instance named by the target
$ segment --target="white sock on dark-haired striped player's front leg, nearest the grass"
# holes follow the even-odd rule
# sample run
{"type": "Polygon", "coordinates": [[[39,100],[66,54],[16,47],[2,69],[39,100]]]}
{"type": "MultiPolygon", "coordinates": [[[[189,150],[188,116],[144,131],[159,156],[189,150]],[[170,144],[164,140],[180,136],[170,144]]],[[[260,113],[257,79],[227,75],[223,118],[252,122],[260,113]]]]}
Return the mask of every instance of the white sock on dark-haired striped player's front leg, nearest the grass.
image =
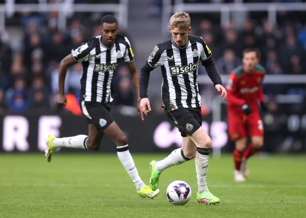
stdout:
{"type": "Polygon", "coordinates": [[[140,191],[140,189],[144,186],[144,182],[141,180],[138,174],[132,155],[129,152],[128,145],[117,147],[117,155],[120,162],[122,163],[126,171],[129,173],[129,176],[131,177],[132,181],[136,185],[136,189],[140,191]]]}

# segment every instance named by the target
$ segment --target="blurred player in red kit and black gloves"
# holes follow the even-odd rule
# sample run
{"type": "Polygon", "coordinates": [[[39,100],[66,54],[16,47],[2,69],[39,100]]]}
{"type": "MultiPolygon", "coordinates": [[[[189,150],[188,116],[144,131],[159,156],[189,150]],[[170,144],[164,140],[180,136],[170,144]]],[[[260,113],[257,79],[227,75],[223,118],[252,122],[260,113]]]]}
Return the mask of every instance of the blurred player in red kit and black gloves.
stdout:
{"type": "Polygon", "coordinates": [[[242,63],[230,73],[226,85],[229,135],[235,141],[234,180],[237,182],[245,181],[249,174],[246,160],[263,146],[259,104],[263,111],[267,111],[261,85],[266,70],[258,64],[259,52],[253,48],[245,49],[242,63]],[[250,137],[248,146],[247,136],[250,137]]]}

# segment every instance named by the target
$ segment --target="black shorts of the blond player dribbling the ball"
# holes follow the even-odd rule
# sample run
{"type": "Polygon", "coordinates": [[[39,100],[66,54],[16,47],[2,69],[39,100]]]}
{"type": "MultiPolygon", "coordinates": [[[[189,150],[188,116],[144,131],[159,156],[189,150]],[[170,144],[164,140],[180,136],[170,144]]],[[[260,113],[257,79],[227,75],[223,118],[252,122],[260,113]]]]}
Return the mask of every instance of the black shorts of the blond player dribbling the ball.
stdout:
{"type": "Polygon", "coordinates": [[[196,132],[202,125],[201,107],[178,108],[166,113],[168,118],[174,122],[182,137],[196,132]]]}

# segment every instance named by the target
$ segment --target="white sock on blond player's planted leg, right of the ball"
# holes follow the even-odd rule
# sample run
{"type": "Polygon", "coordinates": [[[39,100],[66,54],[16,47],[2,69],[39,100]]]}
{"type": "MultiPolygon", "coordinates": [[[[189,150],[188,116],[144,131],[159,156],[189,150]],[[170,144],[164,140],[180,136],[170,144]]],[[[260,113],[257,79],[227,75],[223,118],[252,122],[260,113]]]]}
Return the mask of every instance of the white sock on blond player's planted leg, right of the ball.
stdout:
{"type": "Polygon", "coordinates": [[[198,193],[208,191],[208,188],[206,185],[208,155],[200,154],[197,151],[196,158],[195,158],[195,164],[196,164],[196,177],[198,179],[198,193]]]}

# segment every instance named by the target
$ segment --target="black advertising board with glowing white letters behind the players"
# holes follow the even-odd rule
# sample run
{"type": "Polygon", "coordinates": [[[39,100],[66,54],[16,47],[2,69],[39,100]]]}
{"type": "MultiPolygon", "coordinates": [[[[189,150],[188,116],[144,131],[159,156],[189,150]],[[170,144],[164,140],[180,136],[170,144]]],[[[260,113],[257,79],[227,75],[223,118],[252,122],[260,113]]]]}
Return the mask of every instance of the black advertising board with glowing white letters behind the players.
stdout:
{"type": "MultiPolygon", "coordinates": [[[[216,98],[219,96],[216,96],[216,98]]],[[[294,104],[289,105],[294,106],[294,104]]],[[[305,111],[305,110],[304,110],[305,111]]],[[[231,152],[233,143],[227,133],[226,105],[220,106],[220,119],[214,120],[212,112],[203,117],[203,128],[211,136],[213,154],[231,152]]],[[[132,152],[170,152],[181,147],[177,128],[165,114],[149,114],[142,121],[139,117],[113,114],[115,121],[129,140],[132,152]]],[[[267,152],[306,152],[306,114],[284,112],[263,114],[265,145],[267,152]],[[278,121],[278,122],[276,122],[278,121]]],[[[22,114],[0,116],[0,152],[43,152],[44,139],[50,134],[57,137],[87,134],[88,125],[84,116],[69,112],[55,114],[51,111],[29,111],[22,114]]],[[[82,152],[83,149],[61,148],[65,152],[82,152]]],[[[115,152],[116,146],[104,137],[99,152],[115,152]]]]}

